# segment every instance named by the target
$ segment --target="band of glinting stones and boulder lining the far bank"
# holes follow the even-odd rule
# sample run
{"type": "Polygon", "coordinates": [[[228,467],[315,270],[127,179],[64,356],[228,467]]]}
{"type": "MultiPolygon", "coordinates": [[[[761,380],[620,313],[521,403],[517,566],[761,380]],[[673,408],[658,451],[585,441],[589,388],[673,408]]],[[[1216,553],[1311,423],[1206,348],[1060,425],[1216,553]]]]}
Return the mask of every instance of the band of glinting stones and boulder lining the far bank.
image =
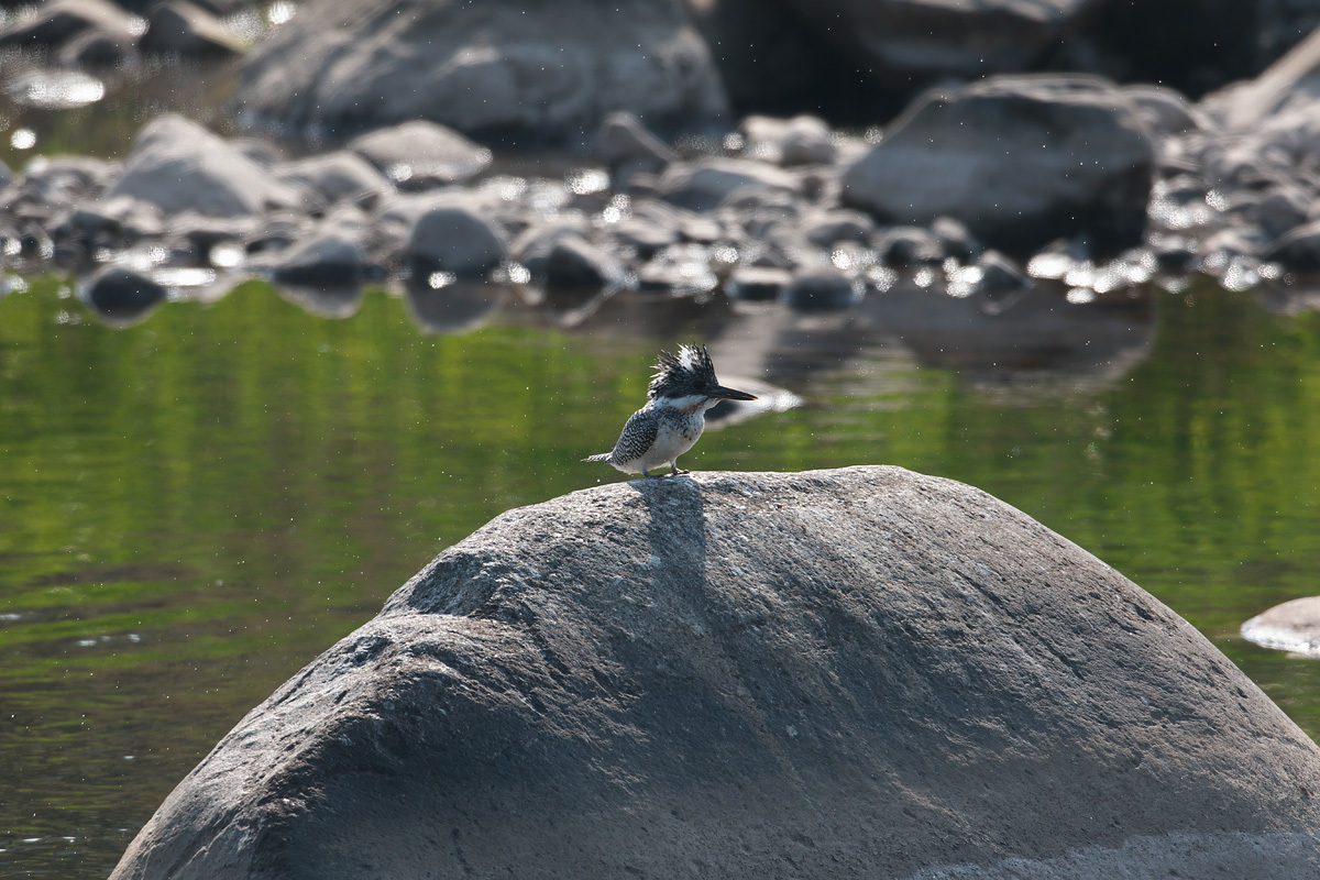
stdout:
{"type": "Polygon", "coordinates": [[[1151,280],[1176,290],[1197,270],[1230,289],[1296,284],[1320,268],[1309,104],[1271,112],[1271,75],[1201,106],[1093,77],[990,78],[865,135],[756,116],[667,144],[614,113],[593,152],[532,175],[429,121],[290,158],[165,115],[123,162],[0,166],[0,253],[20,273],[77,273],[121,318],[246,276],[315,290],[496,282],[554,303],[722,292],[801,310],[900,280],[999,303],[1041,282],[1071,303],[1151,280]]]}

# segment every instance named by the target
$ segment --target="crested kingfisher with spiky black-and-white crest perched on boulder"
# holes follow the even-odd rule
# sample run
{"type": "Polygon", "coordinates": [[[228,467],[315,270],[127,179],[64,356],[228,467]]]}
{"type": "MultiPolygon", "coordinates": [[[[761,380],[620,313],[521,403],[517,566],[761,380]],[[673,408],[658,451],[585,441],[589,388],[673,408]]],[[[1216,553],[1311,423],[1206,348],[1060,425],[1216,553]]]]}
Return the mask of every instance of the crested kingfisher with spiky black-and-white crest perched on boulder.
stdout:
{"type": "Polygon", "coordinates": [[[701,437],[706,410],[722,400],[756,397],[721,385],[705,346],[680,346],[677,355],[661,351],[647,388],[647,405],[628,418],[614,451],[582,460],[609,462],[624,474],[645,478],[661,464],[668,464],[673,475],[686,474],[678,470],[678,456],[701,437]]]}

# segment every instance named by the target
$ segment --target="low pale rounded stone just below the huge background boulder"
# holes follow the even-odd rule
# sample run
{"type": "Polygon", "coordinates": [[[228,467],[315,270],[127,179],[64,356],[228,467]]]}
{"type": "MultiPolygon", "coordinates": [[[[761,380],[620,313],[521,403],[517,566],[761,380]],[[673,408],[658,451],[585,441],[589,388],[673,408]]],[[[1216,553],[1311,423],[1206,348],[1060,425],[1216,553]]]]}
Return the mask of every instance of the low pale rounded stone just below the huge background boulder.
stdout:
{"type": "Polygon", "coordinates": [[[491,164],[491,152],[484,146],[451,128],[421,119],[355,137],[348,150],[408,189],[459,183],[491,164]]]}

